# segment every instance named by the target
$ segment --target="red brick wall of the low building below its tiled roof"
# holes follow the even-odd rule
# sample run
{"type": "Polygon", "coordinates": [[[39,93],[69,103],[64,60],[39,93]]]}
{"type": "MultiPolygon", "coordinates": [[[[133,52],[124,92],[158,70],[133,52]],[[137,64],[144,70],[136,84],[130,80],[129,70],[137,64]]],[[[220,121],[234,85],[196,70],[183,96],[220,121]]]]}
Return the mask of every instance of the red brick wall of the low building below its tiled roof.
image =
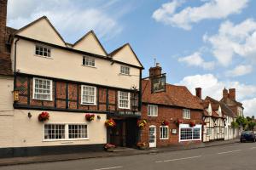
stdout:
{"type": "MultiPolygon", "coordinates": [[[[193,111],[190,110],[191,119],[183,120],[183,123],[189,123],[191,121],[195,121],[196,124],[201,124],[201,111],[193,111]]],[[[156,126],[156,145],[166,146],[170,144],[178,144],[178,126],[176,125],[177,119],[183,119],[183,109],[182,108],[174,108],[174,107],[166,107],[166,106],[158,106],[158,116],[148,116],[148,105],[143,104],[142,108],[142,119],[147,120],[147,125],[142,129],[141,140],[143,142],[148,143],[148,128],[150,125],[156,126]],[[169,139],[160,139],[160,126],[162,121],[169,122],[169,139]],[[177,134],[172,134],[172,129],[177,129],[177,134]]],[[[201,142],[201,141],[193,141],[193,143],[201,142]]],[[[183,142],[184,144],[186,142],[183,142]]],[[[191,142],[189,142],[191,143],[191,142]]]]}

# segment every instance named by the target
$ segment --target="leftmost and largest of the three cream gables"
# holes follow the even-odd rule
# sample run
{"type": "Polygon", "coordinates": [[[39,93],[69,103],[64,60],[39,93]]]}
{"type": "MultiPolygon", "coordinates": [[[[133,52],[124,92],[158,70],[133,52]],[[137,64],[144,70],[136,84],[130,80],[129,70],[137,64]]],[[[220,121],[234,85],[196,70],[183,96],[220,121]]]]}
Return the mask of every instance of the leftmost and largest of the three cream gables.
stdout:
{"type": "Polygon", "coordinates": [[[46,16],[20,28],[19,31],[15,32],[15,35],[66,47],[63,38],[46,16]]]}

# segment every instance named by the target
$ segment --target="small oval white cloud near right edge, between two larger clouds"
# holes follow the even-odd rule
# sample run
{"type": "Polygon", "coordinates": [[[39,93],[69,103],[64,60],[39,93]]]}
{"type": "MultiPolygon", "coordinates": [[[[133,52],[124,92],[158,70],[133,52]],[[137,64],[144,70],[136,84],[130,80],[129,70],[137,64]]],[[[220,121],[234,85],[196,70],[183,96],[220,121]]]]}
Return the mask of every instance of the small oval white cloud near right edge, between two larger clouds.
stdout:
{"type": "Polygon", "coordinates": [[[226,72],[227,77],[241,77],[243,75],[249,74],[253,71],[252,65],[237,65],[236,68],[234,68],[231,71],[226,72]]]}

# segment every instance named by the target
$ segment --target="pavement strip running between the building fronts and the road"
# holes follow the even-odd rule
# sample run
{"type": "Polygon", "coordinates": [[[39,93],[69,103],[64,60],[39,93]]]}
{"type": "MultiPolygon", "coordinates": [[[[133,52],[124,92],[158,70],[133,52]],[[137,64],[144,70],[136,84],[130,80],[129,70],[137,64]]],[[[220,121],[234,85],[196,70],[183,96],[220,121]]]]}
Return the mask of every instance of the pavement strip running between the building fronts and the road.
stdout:
{"type": "Polygon", "coordinates": [[[1,166],[13,166],[19,164],[32,164],[52,161],[71,161],[71,160],[83,160],[93,158],[104,158],[114,156],[135,156],[135,155],[148,155],[159,154],[177,150],[193,150],[208,147],[217,147],[225,144],[239,143],[239,139],[226,140],[226,141],[214,141],[200,144],[176,144],[168,147],[153,148],[148,150],[137,150],[127,148],[116,148],[113,152],[84,152],[76,154],[62,154],[62,155],[49,155],[49,156],[28,156],[28,157],[14,157],[14,158],[2,158],[0,159],[1,166]]]}

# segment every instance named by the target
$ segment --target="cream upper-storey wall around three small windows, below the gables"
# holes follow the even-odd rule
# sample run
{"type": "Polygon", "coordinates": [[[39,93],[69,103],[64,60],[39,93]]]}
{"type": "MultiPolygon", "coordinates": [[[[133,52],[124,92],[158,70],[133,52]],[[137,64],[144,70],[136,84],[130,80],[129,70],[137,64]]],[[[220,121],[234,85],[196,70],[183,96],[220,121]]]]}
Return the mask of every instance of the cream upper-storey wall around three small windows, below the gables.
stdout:
{"type": "MultiPolygon", "coordinates": [[[[20,39],[17,44],[16,71],[116,88],[131,89],[132,86],[139,88],[140,71],[137,68],[131,67],[131,75],[125,76],[119,74],[119,64],[105,59],[95,59],[96,67],[88,67],[82,65],[82,54],[52,48],[52,57],[44,58],[35,55],[35,43],[20,39]]],[[[14,61],[14,50],[12,56],[14,61]]]]}

